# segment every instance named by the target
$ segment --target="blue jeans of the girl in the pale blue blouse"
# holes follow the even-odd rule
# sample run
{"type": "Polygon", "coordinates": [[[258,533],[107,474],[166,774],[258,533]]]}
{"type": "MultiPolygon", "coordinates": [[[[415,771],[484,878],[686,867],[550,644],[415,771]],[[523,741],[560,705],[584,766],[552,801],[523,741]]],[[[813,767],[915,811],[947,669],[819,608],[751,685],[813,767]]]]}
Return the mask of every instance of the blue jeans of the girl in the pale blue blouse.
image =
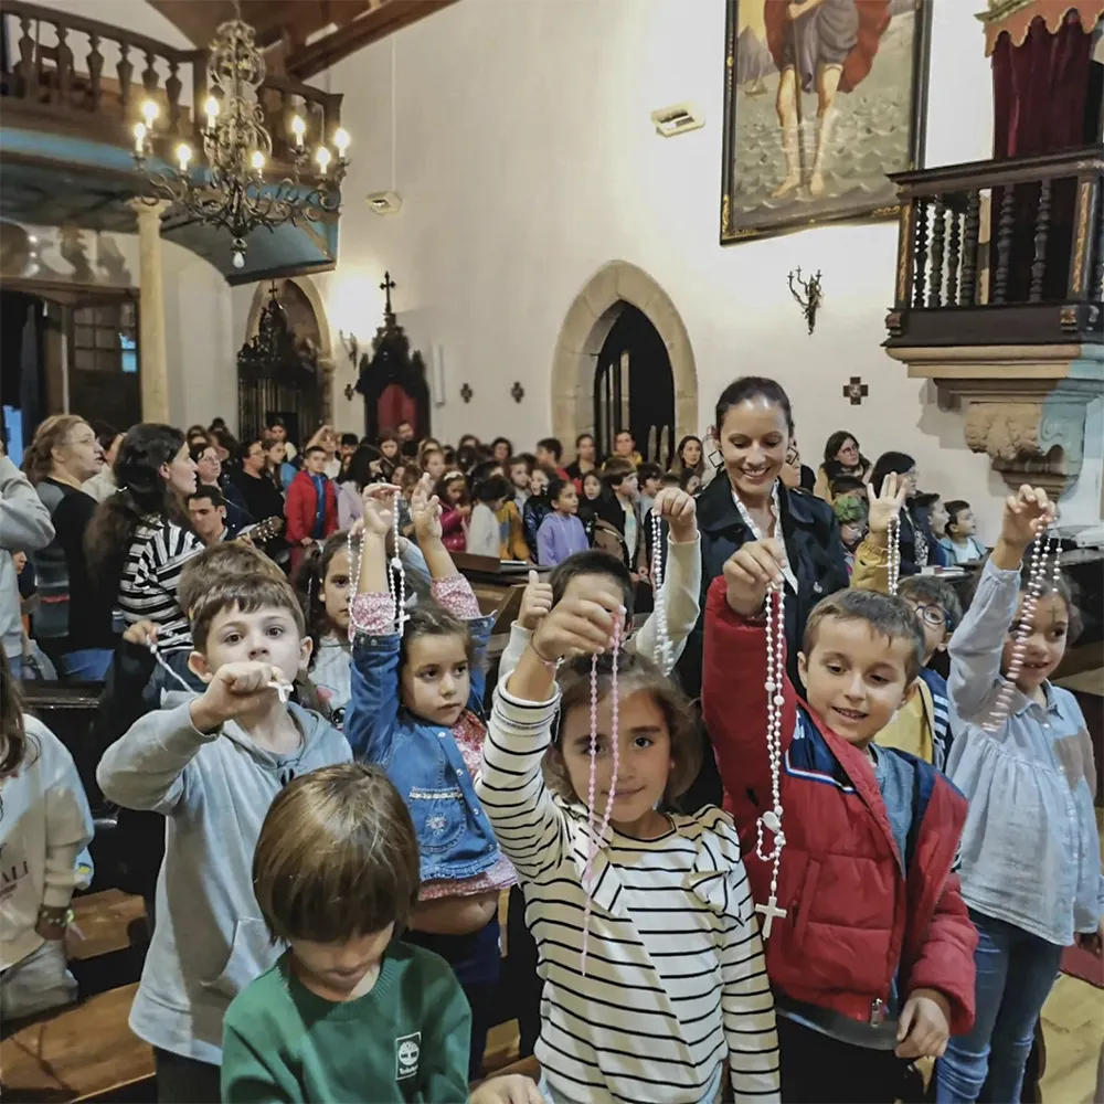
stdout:
{"type": "Polygon", "coordinates": [[[953,1036],[935,1065],[937,1104],[1018,1101],[1034,1026],[1054,985],[1063,947],[970,909],[977,927],[974,1029],[953,1036]]]}

